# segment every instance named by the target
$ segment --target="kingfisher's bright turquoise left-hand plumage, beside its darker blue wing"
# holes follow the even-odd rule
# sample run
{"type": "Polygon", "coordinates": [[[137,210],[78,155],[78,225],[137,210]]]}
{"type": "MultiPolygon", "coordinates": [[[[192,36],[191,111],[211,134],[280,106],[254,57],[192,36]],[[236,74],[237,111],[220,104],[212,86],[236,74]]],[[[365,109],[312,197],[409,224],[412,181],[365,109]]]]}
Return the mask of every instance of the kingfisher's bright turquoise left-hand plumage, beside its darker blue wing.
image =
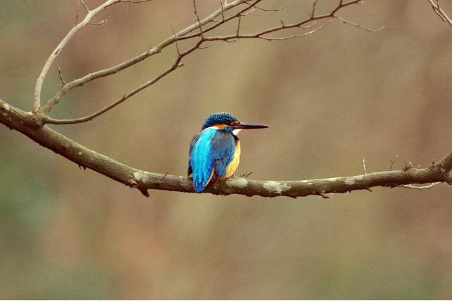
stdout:
{"type": "Polygon", "coordinates": [[[200,193],[209,183],[215,159],[211,154],[211,141],[216,129],[205,129],[191,140],[188,163],[188,175],[193,175],[193,188],[200,193]]]}

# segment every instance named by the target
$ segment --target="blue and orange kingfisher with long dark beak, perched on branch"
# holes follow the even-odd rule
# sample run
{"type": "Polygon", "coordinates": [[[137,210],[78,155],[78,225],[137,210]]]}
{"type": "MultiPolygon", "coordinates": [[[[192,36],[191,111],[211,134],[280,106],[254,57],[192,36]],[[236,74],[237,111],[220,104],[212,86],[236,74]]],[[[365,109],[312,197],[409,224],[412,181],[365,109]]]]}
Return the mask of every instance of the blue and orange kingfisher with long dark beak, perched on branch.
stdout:
{"type": "Polygon", "coordinates": [[[208,115],[188,150],[187,173],[195,192],[201,193],[211,181],[232,177],[240,161],[239,131],[265,128],[268,125],[240,122],[227,112],[208,115]]]}

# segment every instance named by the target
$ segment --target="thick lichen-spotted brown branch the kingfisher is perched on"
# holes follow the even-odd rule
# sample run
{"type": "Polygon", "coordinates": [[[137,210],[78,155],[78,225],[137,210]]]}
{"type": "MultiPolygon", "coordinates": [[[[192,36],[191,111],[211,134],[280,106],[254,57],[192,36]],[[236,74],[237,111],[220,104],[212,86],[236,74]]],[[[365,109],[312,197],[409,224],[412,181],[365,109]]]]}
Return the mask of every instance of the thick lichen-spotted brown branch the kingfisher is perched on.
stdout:
{"type": "MultiPolygon", "coordinates": [[[[88,147],[67,138],[47,126],[36,124],[33,114],[26,113],[0,100],[0,123],[28,136],[36,143],[60,154],[81,168],[90,168],[115,181],[137,188],[149,197],[147,190],[168,190],[195,193],[191,179],[170,174],[145,172],[94,152],[88,147]]],[[[207,186],[204,193],[213,195],[260,195],[263,197],[305,197],[328,193],[347,193],[352,190],[370,190],[371,187],[396,187],[407,184],[443,182],[452,184],[452,151],[430,168],[406,168],[360,174],[353,177],[335,177],[302,181],[256,181],[244,177],[233,177],[224,182],[207,186]]]]}

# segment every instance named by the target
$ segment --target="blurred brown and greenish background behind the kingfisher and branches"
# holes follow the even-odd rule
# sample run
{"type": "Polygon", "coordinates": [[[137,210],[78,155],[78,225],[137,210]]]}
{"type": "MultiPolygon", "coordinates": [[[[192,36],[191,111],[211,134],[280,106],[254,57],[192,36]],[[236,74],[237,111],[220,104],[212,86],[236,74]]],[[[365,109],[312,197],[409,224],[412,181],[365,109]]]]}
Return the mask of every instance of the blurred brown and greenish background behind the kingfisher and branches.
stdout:
{"type": "MultiPolygon", "coordinates": [[[[1,99],[31,109],[35,80],[73,26],[76,2],[1,1],[1,99]]],[[[197,3],[205,17],[220,1],[197,3]]],[[[296,21],[311,8],[261,3],[283,5],[243,19],[243,32],[296,21]]],[[[427,0],[364,1],[339,15],[386,27],[369,33],[336,20],[296,40],[216,42],[96,120],[52,128],[135,168],[179,175],[189,140],[216,111],[271,125],[241,133],[238,173],[252,171],[252,179],[362,174],[363,157],[368,172],[389,170],[389,156],[398,155],[396,169],[404,158],[421,167],[438,161],[452,149],[452,27],[427,0]]],[[[146,51],[172,34],[169,24],[195,22],[191,0],[124,3],[108,16],[61,52],[43,99],[58,89],[57,65],[70,81],[146,51]]],[[[169,47],[74,90],[51,116],[92,113],[152,79],[175,54],[169,47]]],[[[452,298],[446,185],[328,200],[165,191],[147,199],[3,126],[0,141],[1,299],[452,298]]]]}

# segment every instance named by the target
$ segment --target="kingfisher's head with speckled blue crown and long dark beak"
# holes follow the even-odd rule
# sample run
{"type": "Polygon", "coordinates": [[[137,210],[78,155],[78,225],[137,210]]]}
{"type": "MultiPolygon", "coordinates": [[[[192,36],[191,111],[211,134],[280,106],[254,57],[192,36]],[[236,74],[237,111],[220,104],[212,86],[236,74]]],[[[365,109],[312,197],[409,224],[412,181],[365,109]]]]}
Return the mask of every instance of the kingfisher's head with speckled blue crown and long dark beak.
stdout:
{"type": "Polygon", "coordinates": [[[202,124],[201,131],[209,127],[215,127],[219,130],[232,131],[232,133],[237,134],[242,129],[265,129],[268,125],[240,122],[231,113],[218,112],[207,116],[206,121],[202,124]]]}

